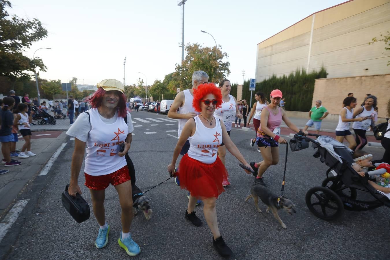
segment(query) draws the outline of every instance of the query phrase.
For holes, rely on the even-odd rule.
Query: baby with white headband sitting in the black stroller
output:
[[[363,150],[356,150],[353,152],[353,161],[352,168],[362,177],[368,176],[368,168],[374,167],[371,163],[372,154],[365,152]],[[380,186],[373,182],[372,180],[368,180],[369,184],[374,187],[374,189],[378,191],[382,191],[384,193],[390,193],[390,188]]]

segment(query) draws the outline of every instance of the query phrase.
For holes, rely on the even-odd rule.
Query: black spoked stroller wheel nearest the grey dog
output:
[[[313,187],[306,193],[306,205],[317,217],[335,220],[342,216],[344,205],[337,193],[326,187]]]

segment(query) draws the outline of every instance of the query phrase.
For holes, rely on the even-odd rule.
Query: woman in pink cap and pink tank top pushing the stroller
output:
[[[256,143],[261,150],[264,160],[259,163],[250,163],[252,169],[257,172],[256,184],[266,186],[262,179],[263,174],[269,166],[278,164],[278,144],[287,143],[284,138],[280,137],[280,123],[282,123],[282,120],[294,132],[298,133],[300,131],[287,117],[286,112],[279,107],[282,97],[282,91],[278,89],[272,90],[270,97],[271,103],[261,111],[260,127],[257,129]],[[303,133],[305,135],[308,134],[307,131],[303,131]],[[269,148],[267,149],[267,147]]]

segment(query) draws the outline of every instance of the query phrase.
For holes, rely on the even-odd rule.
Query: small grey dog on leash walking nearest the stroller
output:
[[[259,208],[259,205],[257,205],[259,203],[260,198],[261,201],[268,206],[266,212],[269,213],[269,209],[271,209],[275,218],[279,221],[280,225],[282,225],[282,228],[287,227],[286,225],[284,225],[282,219],[279,218],[278,210],[284,209],[290,215],[296,213],[294,209],[295,205],[291,200],[284,196],[279,197],[273,194],[270,189],[260,184],[252,185],[252,187],[250,188],[250,195],[245,199],[245,201],[247,202],[250,198],[254,199],[255,207],[257,211],[261,213],[261,209]]]

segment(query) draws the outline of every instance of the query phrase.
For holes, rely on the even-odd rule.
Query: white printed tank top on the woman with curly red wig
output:
[[[218,117],[214,116],[216,125],[214,128],[204,126],[199,115],[194,117],[196,130],[190,136],[190,149],[188,156],[202,163],[211,164],[217,159],[218,147],[222,143],[222,128]],[[192,120],[192,119],[191,119]]]

